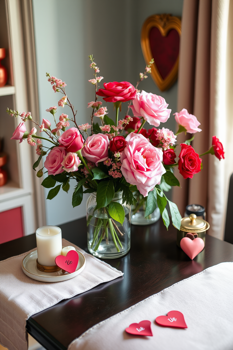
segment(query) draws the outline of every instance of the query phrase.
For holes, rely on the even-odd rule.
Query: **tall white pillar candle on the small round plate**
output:
[[[36,230],[38,263],[55,266],[55,258],[61,255],[61,229],[57,226],[42,226]]]

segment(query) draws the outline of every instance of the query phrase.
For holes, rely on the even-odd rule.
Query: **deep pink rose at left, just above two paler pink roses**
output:
[[[77,152],[82,148],[84,139],[75,127],[66,130],[58,139],[59,144],[66,148],[67,152]]]

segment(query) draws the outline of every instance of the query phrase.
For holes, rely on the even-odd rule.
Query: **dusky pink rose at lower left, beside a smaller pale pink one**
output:
[[[66,155],[64,147],[54,147],[47,155],[44,166],[48,169],[48,175],[56,175],[63,172],[62,164]]]

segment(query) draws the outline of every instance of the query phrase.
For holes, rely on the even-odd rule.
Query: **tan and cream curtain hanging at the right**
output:
[[[184,0],[177,111],[186,108],[201,123],[192,147],[204,153],[216,135],[223,143],[225,160],[205,155],[203,169],[174,188],[173,200],[181,215],[187,204],[202,204],[211,227],[209,234],[223,239],[229,178],[233,172],[233,2]],[[189,135],[187,135],[188,137]],[[184,135],[179,135],[179,142]],[[177,147],[178,149],[178,147]],[[178,149],[179,151],[179,149]]]

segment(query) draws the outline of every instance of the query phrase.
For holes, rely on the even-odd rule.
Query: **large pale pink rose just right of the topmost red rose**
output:
[[[161,96],[141,91],[133,99],[134,117],[143,117],[150,125],[159,126],[165,123],[170,117],[172,110],[167,109],[168,103]]]

